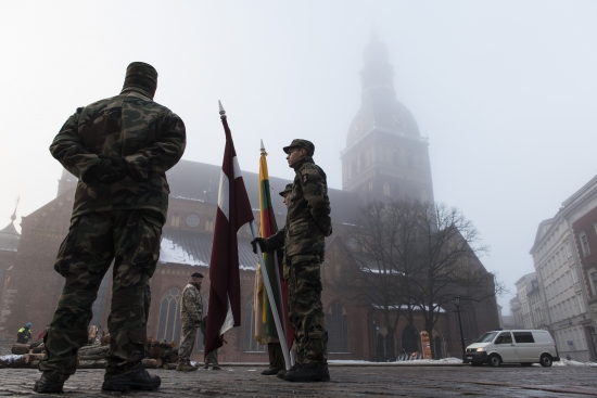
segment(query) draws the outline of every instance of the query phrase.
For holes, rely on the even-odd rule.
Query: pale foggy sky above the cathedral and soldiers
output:
[[[258,170],[263,139],[270,175],[291,179],[281,147],[305,138],[341,189],[374,26],[429,137],[435,200],[492,247],[507,314],[538,223],[597,172],[596,16],[589,1],[3,1],[0,228],[18,195],[18,217],[55,197],[53,137],[117,94],[132,61],[155,66],[155,101],[185,120],[185,159],[221,164],[221,100],[241,168]]]

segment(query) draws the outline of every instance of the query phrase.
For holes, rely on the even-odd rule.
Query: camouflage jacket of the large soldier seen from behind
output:
[[[165,220],[166,170],[178,163],[185,146],[180,117],[143,90],[125,88],[119,95],[79,107],[54,138],[50,152],[79,179],[73,216],[152,209]],[[101,161],[98,155],[123,157],[128,175],[113,183],[97,181],[92,168]]]

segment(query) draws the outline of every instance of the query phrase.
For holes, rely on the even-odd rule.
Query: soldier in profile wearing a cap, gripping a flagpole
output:
[[[296,174],[284,228],[253,240],[264,252],[284,247],[284,280],[289,283],[290,324],[294,329],[296,363],[278,376],[291,382],[327,382],[328,331],[321,304],[320,266],[325,237],[332,233],[326,174],[313,161],[315,145],[293,140],[284,146],[289,167]]]

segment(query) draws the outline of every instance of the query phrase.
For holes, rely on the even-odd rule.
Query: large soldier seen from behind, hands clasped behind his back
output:
[[[79,107],[50,152],[78,178],[68,234],[54,269],[65,279],[45,337],[38,393],[62,390],[87,343],[91,306],[112,262],[110,351],[102,389],[155,389],[141,368],[151,301],[149,280],[160,256],[168,209],[166,171],[186,145],[180,117],[153,101],[157,72],[134,62],[122,92]]]

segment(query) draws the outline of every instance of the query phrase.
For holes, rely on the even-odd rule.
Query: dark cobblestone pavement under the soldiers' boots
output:
[[[103,370],[79,370],[56,397],[589,397],[597,396],[596,369],[466,365],[331,365],[329,383],[289,383],[262,376],[264,367],[223,365],[221,371],[151,370],[155,391],[102,393]],[[33,396],[37,370],[0,369],[0,396]],[[50,396],[50,395],[46,395]]]

